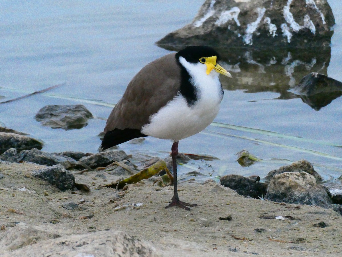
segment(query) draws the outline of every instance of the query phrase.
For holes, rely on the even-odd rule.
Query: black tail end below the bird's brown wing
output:
[[[133,138],[145,137],[147,135],[142,134],[140,130],[137,129],[114,129],[107,131],[102,140],[102,150],[109,147],[119,145],[121,143],[127,142]]]

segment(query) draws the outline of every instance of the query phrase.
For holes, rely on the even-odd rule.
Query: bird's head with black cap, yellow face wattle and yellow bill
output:
[[[232,77],[217,62],[220,60],[219,53],[208,46],[188,46],[176,53],[176,58],[181,62],[181,58],[191,64],[206,65],[206,73],[209,75],[212,70],[224,76]],[[184,65],[183,65],[184,66]]]

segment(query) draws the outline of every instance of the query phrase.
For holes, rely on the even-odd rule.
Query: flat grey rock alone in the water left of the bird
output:
[[[36,121],[52,129],[81,129],[87,126],[88,119],[93,118],[83,105],[47,105],[36,114]]]

